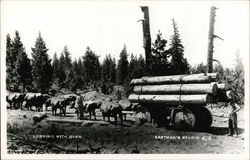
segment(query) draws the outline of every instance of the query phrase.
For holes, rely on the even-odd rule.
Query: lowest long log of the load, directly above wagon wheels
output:
[[[210,101],[208,94],[200,95],[136,95],[132,94],[128,98],[132,103],[166,103],[178,104],[206,104]]]

